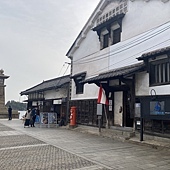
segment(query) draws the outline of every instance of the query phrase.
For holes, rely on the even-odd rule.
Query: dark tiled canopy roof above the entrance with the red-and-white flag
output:
[[[96,77],[83,80],[81,81],[81,83],[94,83],[95,81],[108,80],[111,78],[118,78],[120,76],[128,76],[128,75],[131,75],[135,72],[142,70],[144,67],[145,65],[143,63],[138,63],[138,64],[126,66],[126,67],[117,68],[117,69],[99,74]]]

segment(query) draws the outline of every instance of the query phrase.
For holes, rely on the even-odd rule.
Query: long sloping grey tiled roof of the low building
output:
[[[40,92],[40,91],[45,91],[45,90],[50,90],[50,89],[57,89],[65,84],[69,83],[69,81],[70,81],[70,75],[43,81],[42,83],[40,83],[34,87],[31,87],[25,91],[22,91],[21,95],[28,95],[29,93]]]

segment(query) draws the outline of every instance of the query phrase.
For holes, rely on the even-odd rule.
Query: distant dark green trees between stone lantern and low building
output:
[[[14,100],[8,101],[6,107],[12,107],[13,110],[25,111],[27,109],[27,103],[16,102]]]

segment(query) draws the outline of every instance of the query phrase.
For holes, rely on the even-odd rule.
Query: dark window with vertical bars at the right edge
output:
[[[170,84],[170,60],[150,63],[150,85]]]

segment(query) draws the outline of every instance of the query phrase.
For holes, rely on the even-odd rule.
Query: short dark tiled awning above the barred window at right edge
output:
[[[148,53],[144,53],[142,54],[141,57],[137,58],[138,60],[144,60],[146,58],[149,58],[149,57],[152,57],[152,56],[155,56],[155,55],[161,55],[161,54],[164,54],[166,52],[170,51],[170,46],[168,47],[164,47],[164,48],[160,48],[160,49],[157,49],[157,50],[154,50],[154,51],[151,51],[151,52],[148,52]]]

